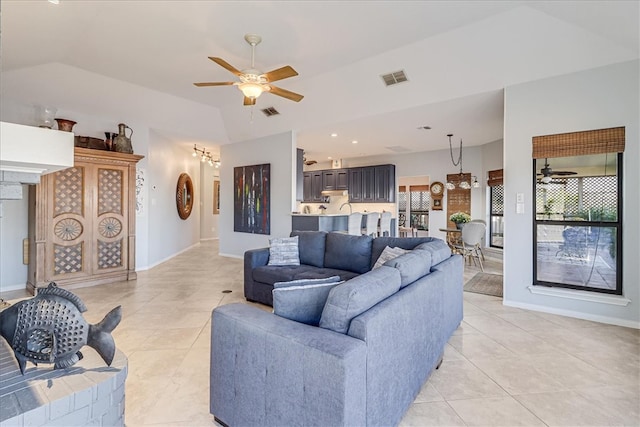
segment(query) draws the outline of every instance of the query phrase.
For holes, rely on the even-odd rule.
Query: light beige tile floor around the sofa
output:
[[[216,425],[209,414],[210,314],[245,302],[242,260],[217,253],[217,241],[203,242],[135,281],[74,290],[91,323],[123,306],[114,337],[129,358],[128,427]],[[501,270],[487,258],[485,271]],[[465,280],[478,271],[465,266]],[[640,425],[640,331],[466,292],[464,304],[444,363],[401,426]]]

